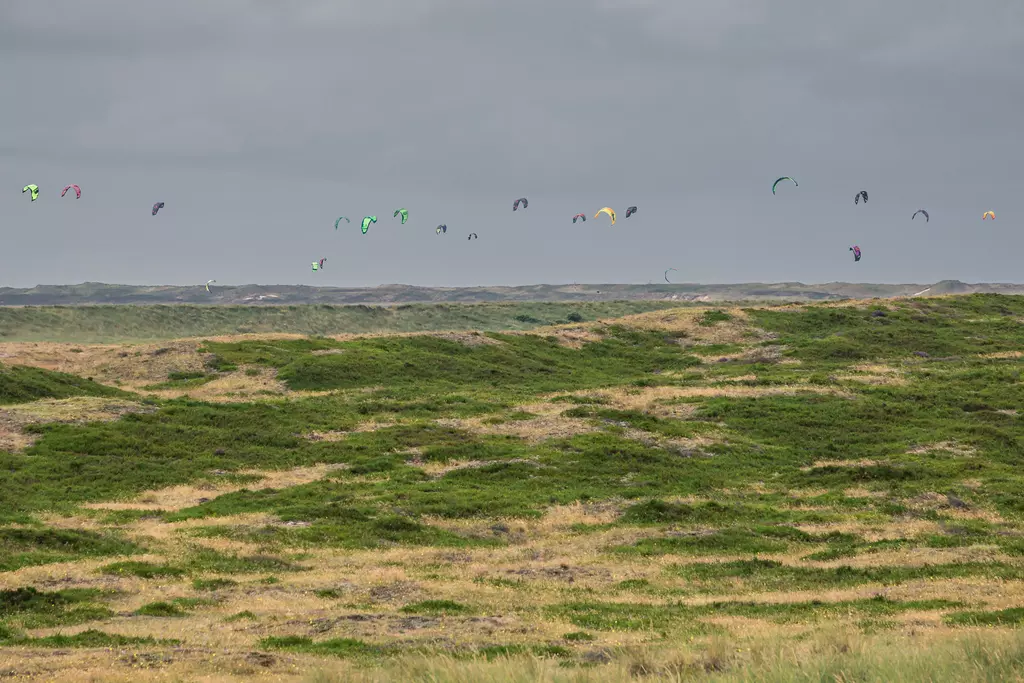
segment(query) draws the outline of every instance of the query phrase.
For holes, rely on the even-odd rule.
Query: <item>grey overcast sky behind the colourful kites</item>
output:
[[[0,285],[1021,282],[1022,67],[1021,0],[0,2]]]

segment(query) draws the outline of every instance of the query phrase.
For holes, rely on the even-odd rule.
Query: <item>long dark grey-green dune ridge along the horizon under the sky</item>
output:
[[[520,285],[515,287],[309,287],[305,285],[38,285],[28,289],[0,288],[0,306],[53,306],[87,304],[407,304],[484,303],[517,301],[741,301],[889,298],[942,294],[1024,294],[1024,285],[967,284],[944,280],[932,285],[878,285],[869,283],[742,283],[733,285]]]

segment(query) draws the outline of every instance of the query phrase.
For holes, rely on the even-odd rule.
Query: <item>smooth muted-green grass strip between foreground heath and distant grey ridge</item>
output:
[[[238,335],[529,330],[679,306],[665,301],[366,305],[0,306],[0,342],[111,343]]]

